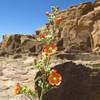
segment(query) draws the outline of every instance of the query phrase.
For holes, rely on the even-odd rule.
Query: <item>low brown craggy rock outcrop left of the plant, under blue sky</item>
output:
[[[1,55],[33,52],[38,53],[41,50],[41,43],[33,41],[32,35],[4,35],[0,44]]]

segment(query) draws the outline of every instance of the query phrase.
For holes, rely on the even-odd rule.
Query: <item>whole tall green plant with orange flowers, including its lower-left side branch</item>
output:
[[[27,86],[21,86],[21,84],[16,83],[13,94],[26,94],[31,100],[43,100],[43,95],[47,93],[50,89],[58,87],[62,82],[62,76],[57,72],[56,69],[50,67],[50,59],[57,52],[58,48],[54,43],[57,33],[60,30],[60,24],[62,22],[62,16],[56,17],[58,13],[58,8],[52,6],[51,12],[46,12],[45,15],[48,17],[49,23],[46,24],[46,31],[40,32],[36,37],[35,41],[41,42],[42,51],[41,59],[37,60],[35,68],[41,72],[41,76],[34,79],[34,82],[38,83],[41,88],[40,96],[38,96],[37,90],[33,91]],[[54,67],[54,66],[52,66]]]

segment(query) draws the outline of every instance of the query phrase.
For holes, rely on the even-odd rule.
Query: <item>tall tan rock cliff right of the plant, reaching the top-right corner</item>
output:
[[[100,50],[100,1],[86,2],[60,11],[63,48],[67,52]],[[40,29],[44,31],[44,29]]]

